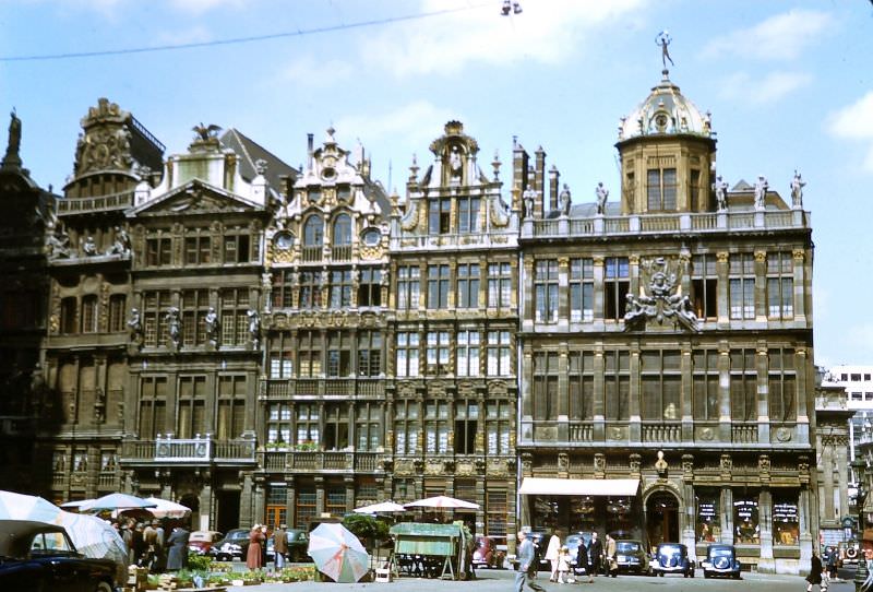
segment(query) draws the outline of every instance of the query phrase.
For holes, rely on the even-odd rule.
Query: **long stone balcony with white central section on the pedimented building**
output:
[[[254,461],[253,439],[159,437],[121,445],[123,464],[250,464]]]

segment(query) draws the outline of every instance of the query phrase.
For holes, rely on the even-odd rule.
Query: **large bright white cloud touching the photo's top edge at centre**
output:
[[[363,42],[363,59],[395,75],[452,74],[471,62],[507,64],[519,58],[557,63],[569,59],[595,27],[619,22],[645,0],[522,2],[524,12],[500,16],[500,3],[386,26]],[[463,8],[469,0],[424,0],[421,12]]]

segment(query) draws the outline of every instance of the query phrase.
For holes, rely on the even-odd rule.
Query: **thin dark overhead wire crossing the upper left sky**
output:
[[[246,43],[255,43],[255,42],[264,42],[270,39],[280,39],[286,37],[302,37],[304,35],[316,35],[320,33],[332,33],[335,31],[345,31],[349,28],[362,28],[368,26],[376,26],[376,25],[386,25],[392,23],[400,23],[405,21],[417,21],[421,19],[430,19],[432,16],[440,16],[443,14],[450,14],[453,12],[463,12],[468,10],[475,10],[482,8],[485,5],[491,4],[491,2],[479,2],[477,4],[468,4],[465,7],[456,7],[456,8],[449,8],[442,10],[435,10],[431,12],[421,12],[417,14],[406,14],[402,16],[388,16],[385,19],[374,19],[371,21],[361,21],[358,23],[347,23],[342,25],[330,25],[330,26],[322,26],[322,27],[314,27],[314,28],[306,28],[306,29],[297,29],[297,31],[288,31],[284,33],[271,33],[266,35],[252,35],[249,37],[235,37],[230,39],[213,39],[210,42],[191,42],[186,44],[168,44],[168,45],[157,45],[157,46],[150,46],[150,47],[131,47],[124,49],[104,49],[104,50],[96,50],[96,51],[75,51],[75,52],[65,52],[65,54],[43,54],[43,55],[33,55],[33,56],[0,56],[0,62],[13,62],[13,61],[45,61],[45,60],[65,60],[65,59],[76,59],[76,58],[96,58],[96,57],[104,57],[104,56],[124,56],[130,54],[148,54],[152,51],[171,51],[176,49],[192,49],[198,47],[215,47],[215,46],[223,46],[223,45],[235,45],[235,44],[246,44]]]

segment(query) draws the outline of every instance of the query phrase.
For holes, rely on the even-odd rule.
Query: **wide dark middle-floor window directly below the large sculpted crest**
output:
[[[643,419],[681,418],[681,353],[672,350],[643,352],[639,356]]]

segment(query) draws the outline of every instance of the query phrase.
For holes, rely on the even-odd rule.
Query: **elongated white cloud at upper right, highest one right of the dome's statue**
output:
[[[834,25],[830,13],[793,9],[750,28],[716,37],[703,57],[741,56],[764,60],[793,60]]]

